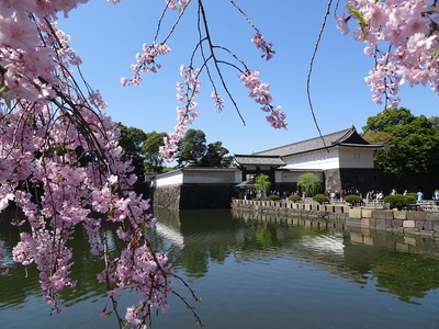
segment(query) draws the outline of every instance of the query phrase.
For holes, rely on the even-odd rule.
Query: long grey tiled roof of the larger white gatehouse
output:
[[[311,139],[306,139],[303,141],[297,141],[293,144],[289,144],[281,147],[275,147],[272,149],[255,152],[255,156],[279,156],[286,157],[303,152],[308,152],[313,150],[330,148],[334,146],[361,146],[361,147],[373,147],[378,148],[381,145],[370,144],[364,140],[358,133],[357,129],[352,126],[348,129],[331,133],[328,135],[323,135],[322,137],[315,137]]]

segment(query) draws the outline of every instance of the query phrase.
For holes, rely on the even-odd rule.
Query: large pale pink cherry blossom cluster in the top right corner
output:
[[[338,27],[348,34],[348,22],[357,21],[354,38],[375,58],[375,68],[365,78],[373,101],[381,104],[384,99],[397,106],[398,86],[405,82],[429,84],[439,93],[437,1],[348,0],[346,5],[349,14],[337,18]]]

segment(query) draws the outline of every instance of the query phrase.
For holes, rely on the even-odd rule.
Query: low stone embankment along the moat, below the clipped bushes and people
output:
[[[439,212],[384,211],[347,204],[315,204],[279,201],[233,200],[233,209],[319,218],[349,227],[383,229],[439,239]]]

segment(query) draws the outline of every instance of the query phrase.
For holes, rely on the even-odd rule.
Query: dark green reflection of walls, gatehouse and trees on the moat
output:
[[[210,262],[291,258],[405,303],[439,287],[438,241],[383,230],[344,228],[315,218],[233,211],[155,209],[157,243],[169,248],[188,276],[207,275]],[[165,240],[162,240],[165,238]],[[172,241],[166,246],[164,241]]]

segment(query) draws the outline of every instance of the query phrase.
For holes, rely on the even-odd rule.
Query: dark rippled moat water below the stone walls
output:
[[[154,243],[202,298],[192,305],[205,328],[439,328],[439,241],[431,238],[229,209],[155,214]],[[0,240],[15,241],[4,224]],[[49,316],[34,270],[0,276],[0,328],[116,328],[98,316],[106,299],[86,245],[79,234],[77,292],[63,295],[61,315]],[[199,328],[181,302],[170,305],[154,328]]]

